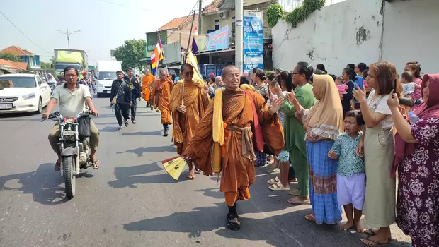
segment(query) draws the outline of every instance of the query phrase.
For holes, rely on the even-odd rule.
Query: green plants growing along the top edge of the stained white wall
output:
[[[297,28],[297,25],[307,20],[314,11],[319,11],[323,8],[325,2],[326,0],[304,0],[302,6],[295,8],[292,12],[287,13],[286,16],[282,15],[280,17],[277,11],[277,5],[279,4],[272,4],[267,8],[268,25],[273,28],[280,18],[284,18],[288,25],[292,28]],[[280,8],[282,8],[282,6],[280,6]]]

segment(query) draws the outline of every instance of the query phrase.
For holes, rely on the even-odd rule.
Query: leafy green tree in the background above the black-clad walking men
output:
[[[142,72],[146,64],[140,59],[144,58],[144,50],[147,45],[145,40],[125,40],[125,43],[115,49],[114,56],[118,61],[122,61],[122,69],[138,68]]]

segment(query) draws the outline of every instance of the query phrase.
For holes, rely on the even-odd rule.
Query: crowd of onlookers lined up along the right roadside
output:
[[[280,173],[268,188],[310,204],[312,222],[336,224],[343,207],[340,229],[367,234],[367,246],[392,241],[394,222],[412,246],[439,246],[439,74],[423,75],[417,62],[399,73],[384,61],[348,64],[341,76],[306,62],[244,73],[241,88],[268,105],[284,98],[284,150],[256,151],[255,165]],[[224,87],[220,77],[208,80],[211,96]]]

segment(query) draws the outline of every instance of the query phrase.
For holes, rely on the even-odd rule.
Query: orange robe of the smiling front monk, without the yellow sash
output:
[[[251,128],[253,117],[258,117],[261,124],[265,143],[277,155],[283,150],[283,129],[278,119],[278,114],[271,115],[268,106],[261,95],[249,92],[253,97],[256,108],[256,116],[253,116],[251,98],[246,95],[244,90],[224,90],[222,93],[222,118],[227,126],[237,128]],[[193,161],[198,168],[207,175],[212,175],[212,119],[213,119],[213,100],[206,109],[205,116],[195,127],[195,133],[190,139],[185,152],[193,157]],[[247,200],[250,198],[249,186],[255,181],[255,169],[253,161],[243,157],[241,143],[243,131],[236,129],[225,129],[224,154],[221,158],[222,176],[220,190],[224,193],[224,198],[228,206],[233,206],[236,200]],[[250,135],[252,136],[253,128]],[[252,150],[253,152],[253,150]]]

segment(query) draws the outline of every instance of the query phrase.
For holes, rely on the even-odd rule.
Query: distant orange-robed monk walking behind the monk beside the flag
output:
[[[171,92],[173,82],[171,76],[168,76],[168,71],[165,68],[160,70],[160,78],[154,80],[152,86],[152,97],[154,101],[154,108],[159,108],[161,112],[161,124],[163,124],[163,136],[168,136],[169,124],[172,124],[171,112],[169,111],[169,100],[171,99]]]

